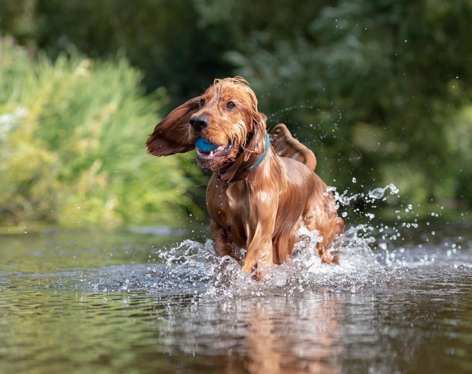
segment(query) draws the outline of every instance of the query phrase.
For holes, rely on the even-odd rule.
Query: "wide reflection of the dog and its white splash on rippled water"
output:
[[[165,318],[170,354],[183,351],[208,361],[218,356],[226,372],[340,372],[340,311],[332,296],[251,296],[181,306],[170,307]]]

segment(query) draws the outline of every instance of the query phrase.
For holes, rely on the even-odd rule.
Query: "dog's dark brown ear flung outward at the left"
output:
[[[154,128],[146,141],[147,153],[154,156],[167,156],[183,153],[195,148],[188,136],[188,120],[198,110],[200,96],[185,101],[173,109]]]

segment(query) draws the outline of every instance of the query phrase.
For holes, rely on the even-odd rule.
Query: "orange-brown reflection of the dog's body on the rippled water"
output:
[[[256,303],[244,316],[250,372],[337,373],[337,305],[332,299]],[[288,315],[278,310],[292,308]]]

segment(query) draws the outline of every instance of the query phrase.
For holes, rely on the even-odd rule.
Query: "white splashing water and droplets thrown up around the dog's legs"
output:
[[[399,192],[390,183],[351,196],[346,191],[339,194],[335,187],[327,187],[326,193],[333,192],[339,207],[357,198],[367,203],[385,199],[386,190],[390,190],[390,194]],[[408,205],[407,209],[410,208]],[[372,219],[374,214],[366,213],[366,216]],[[375,234],[380,240],[376,245]],[[184,240],[171,249],[157,250],[163,264],[155,265],[151,271],[158,278],[154,285],[161,291],[178,289],[216,297],[286,295],[305,290],[356,292],[380,282],[395,282],[405,263],[395,259],[395,253],[390,252],[388,246],[400,236],[396,226],[382,223],[377,228],[368,224],[347,227],[333,243],[340,251],[339,265],[329,265],[322,263],[316,252],[315,245],[322,240],[319,232],[301,227],[296,232],[297,242],[290,262],[268,268],[262,281],[254,280],[253,274],[243,273],[240,261],[217,256],[210,239],[205,243]]]

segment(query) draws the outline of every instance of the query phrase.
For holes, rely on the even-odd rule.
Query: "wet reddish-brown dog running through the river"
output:
[[[147,151],[186,152],[200,137],[217,146],[197,151],[198,164],[213,171],[206,189],[211,236],[217,255],[237,258],[234,248],[246,248],[242,271],[288,261],[301,225],[322,235],[316,244],[321,260],[337,262],[327,248],[344,222],[314,173],[313,152],[281,123],[272,130],[271,145],[265,120],[243,78],[215,79],[155,126]]]

